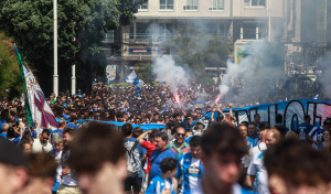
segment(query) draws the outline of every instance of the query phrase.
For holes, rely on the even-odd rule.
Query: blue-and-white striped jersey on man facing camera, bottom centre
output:
[[[191,153],[185,153],[179,159],[177,179],[182,180],[180,194],[194,194],[203,176],[203,165],[201,159],[192,158]]]

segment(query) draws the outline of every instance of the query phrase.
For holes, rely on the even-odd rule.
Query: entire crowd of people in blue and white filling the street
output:
[[[97,84],[89,96],[61,94],[49,100],[57,129],[29,126],[19,99],[1,101],[3,193],[331,193],[330,118],[311,126],[306,115],[297,131],[281,115],[275,126],[258,114],[237,123],[220,104],[197,107],[194,89],[203,91],[179,89],[180,105],[166,86],[137,94]],[[218,90],[204,93],[213,101]],[[220,117],[192,125],[209,111]],[[166,127],[132,127],[143,123]]]

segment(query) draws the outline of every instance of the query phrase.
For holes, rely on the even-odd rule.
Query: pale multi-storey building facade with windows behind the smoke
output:
[[[131,25],[108,35],[113,37],[107,44],[110,47],[108,61],[120,68],[120,74],[136,68],[139,63],[151,62],[154,56],[169,52],[162,48],[162,43],[168,36],[181,35],[183,26],[194,29],[196,35],[227,41],[234,47],[264,39],[284,43],[291,55],[302,55],[302,40],[327,46],[330,39],[325,35],[329,0],[317,1],[146,0]],[[303,17],[309,8],[316,10],[316,18]],[[317,22],[313,32],[307,31],[311,20]]]

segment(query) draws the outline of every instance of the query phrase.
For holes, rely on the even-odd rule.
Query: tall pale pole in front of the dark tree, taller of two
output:
[[[53,39],[54,39],[54,75],[53,75],[53,93],[58,96],[58,74],[57,74],[57,0],[53,0]]]

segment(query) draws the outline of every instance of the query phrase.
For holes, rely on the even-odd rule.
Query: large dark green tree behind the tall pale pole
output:
[[[77,76],[86,83],[93,77],[87,77],[90,78],[87,80],[84,68],[98,69],[96,61],[106,65],[102,54],[104,32],[130,23],[135,19],[132,11],[137,10],[140,1],[57,1],[60,88],[65,90],[70,86],[71,65],[77,64],[77,69],[81,69]],[[0,30],[13,36],[25,61],[36,71],[41,87],[50,94],[53,75],[53,0],[0,1]]]

